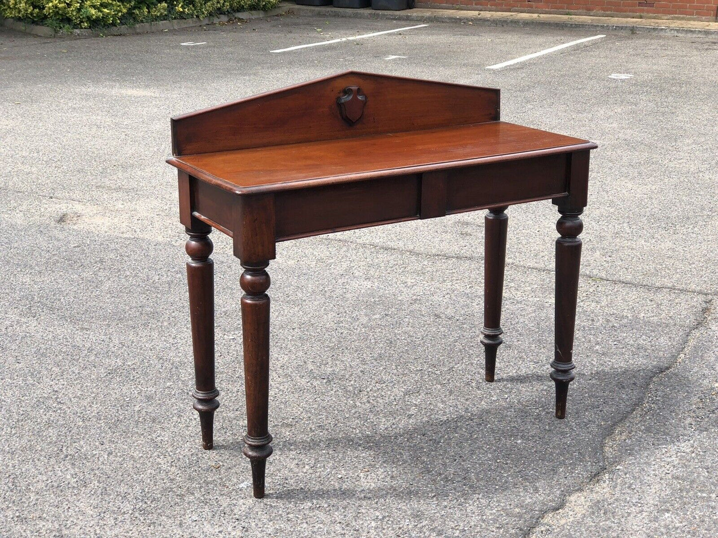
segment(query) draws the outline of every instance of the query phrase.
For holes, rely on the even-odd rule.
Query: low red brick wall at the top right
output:
[[[417,0],[416,7],[446,7],[485,11],[528,11],[573,15],[644,16],[646,18],[716,21],[718,0]]]

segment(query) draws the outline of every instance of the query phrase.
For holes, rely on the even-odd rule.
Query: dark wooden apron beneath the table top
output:
[[[180,177],[180,199],[189,199],[192,217],[232,237],[243,222],[266,220],[274,227],[273,232],[268,230],[274,240],[286,241],[566,197],[571,161],[572,154],[557,154],[250,195],[234,194],[190,176],[184,183],[189,193],[182,192]],[[259,199],[261,203],[256,203]],[[254,207],[261,207],[261,214],[251,214]]]

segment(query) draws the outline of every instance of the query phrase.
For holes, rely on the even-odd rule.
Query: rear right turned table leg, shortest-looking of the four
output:
[[[508,206],[493,207],[484,217],[484,327],[481,343],[484,344],[486,381],[493,382],[496,370],[496,351],[503,343],[501,335],[501,299],[503,273],[506,262],[506,230]]]

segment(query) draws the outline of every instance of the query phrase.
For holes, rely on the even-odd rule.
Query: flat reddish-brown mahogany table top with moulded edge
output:
[[[580,138],[490,121],[172,156],[167,162],[225,190],[256,194],[596,147]]]

